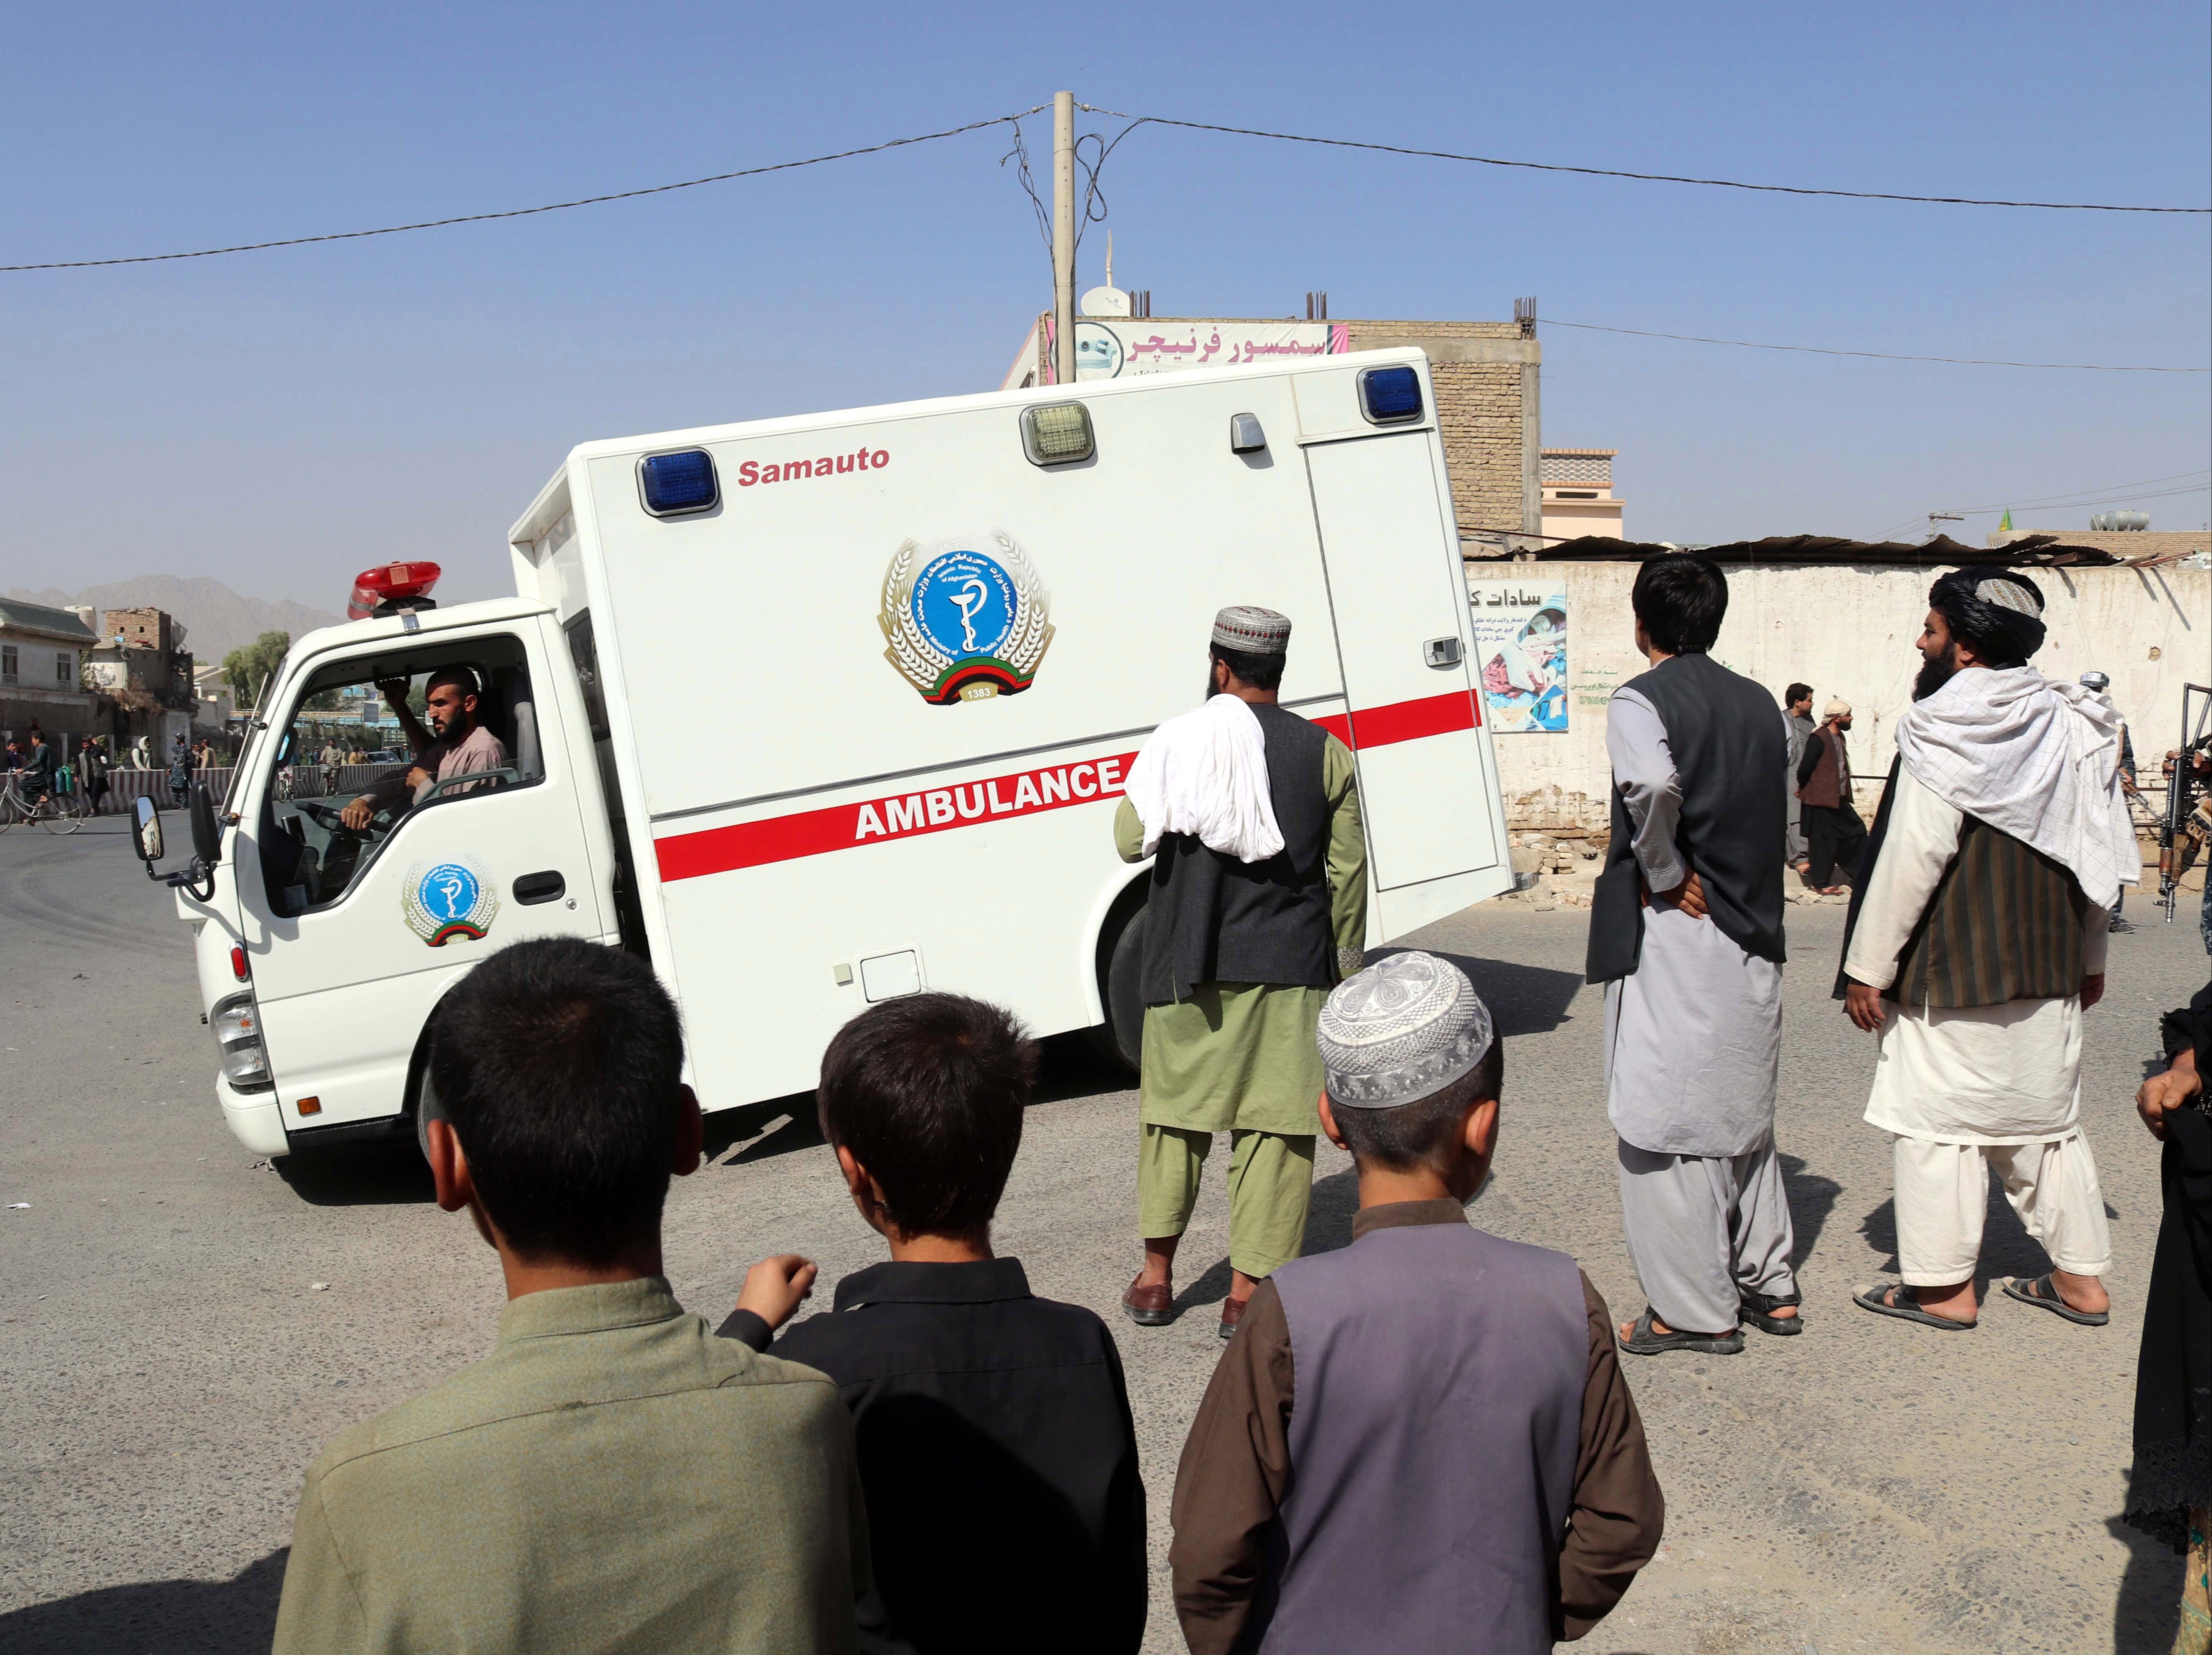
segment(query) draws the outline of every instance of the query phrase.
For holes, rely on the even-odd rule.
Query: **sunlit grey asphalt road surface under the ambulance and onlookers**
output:
[[[1473,1219],[1573,1252],[1628,1316],[1641,1294],[1584,925],[1577,909],[1489,905],[1418,940],[1462,960],[1509,1038],[1500,1164]],[[2150,916],[2112,938],[2088,1024],[2112,1325],[1991,1294],[1960,1336],[1849,1303],[1893,1270],[1896,1226],[1887,1139],[1860,1122],[1871,1040],[1827,998],[1840,934],[1840,909],[1790,909],[1778,1142],[1807,1330],[1754,1332],[1732,1359],[1624,1359],[1668,1540],[1584,1648],[2163,1651],[2179,1560],[2115,1520],[2159,1221],[2157,1146],[2130,1100],[2157,1013],[2205,980],[2194,925]],[[493,1259],[465,1217],[436,1210],[411,1151],[272,1168],[232,1142],[184,925],[119,823],[0,836],[0,1648],[265,1648],[301,1469],[338,1427],[484,1352]],[[1115,1328],[1152,1513],[1146,1648],[1177,1651],[1168,1496],[1219,1354],[1225,1199],[1210,1179],[1183,1246],[1190,1312],[1164,1330],[1121,1321],[1135,1120],[1119,1075],[1079,1040],[1053,1042],[998,1246],[1037,1292]],[[807,1100],[714,1117],[710,1148],[668,1208],[688,1305],[726,1312],[765,1252],[812,1255],[825,1288],[880,1257]],[[1323,1144],[1307,1248],[1343,1246],[1352,1208],[1347,1162]],[[2042,1268],[1993,1195],[1984,1270]]]

